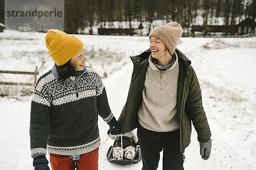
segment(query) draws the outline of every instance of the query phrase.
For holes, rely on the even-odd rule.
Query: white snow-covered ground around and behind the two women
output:
[[[53,61],[45,47],[44,36],[44,33],[9,30],[0,33],[0,70],[34,71],[38,66],[39,75],[42,75],[51,69]],[[84,42],[87,65],[105,77],[103,82],[111,110],[119,117],[127,99],[133,68],[129,56],[146,50],[148,37],[77,37]],[[205,161],[200,156],[193,129],[192,142],[185,151],[185,170],[255,170],[256,38],[181,38],[177,48],[192,61],[212,131],[212,152]],[[0,74],[0,79],[23,81],[25,78],[24,75]],[[29,144],[31,98],[0,98],[0,170],[33,169]],[[141,161],[124,166],[106,159],[113,141],[106,134],[108,125],[100,117],[98,123],[102,141],[99,170],[140,170]],[[162,169],[161,158],[158,170]]]

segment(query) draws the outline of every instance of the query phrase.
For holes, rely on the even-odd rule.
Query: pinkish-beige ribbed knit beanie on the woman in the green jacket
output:
[[[170,53],[173,55],[175,48],[177,46],[178,40],[182,34],[182,28],[180,24],[171,22],[165,26],[160,26],[154,28],[153,31],[149,34],[149,40],[152,36],[157,37],[166,45]]]

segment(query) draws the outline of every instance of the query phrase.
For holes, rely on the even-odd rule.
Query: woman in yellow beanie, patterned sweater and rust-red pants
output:
[[[35,170],[97,170],[98,115],[120,133],[102,79],[84,66],[83,43],[63,31],[47,31],[45,43],[55,65],[38,79],[31,102],[30,146]]]

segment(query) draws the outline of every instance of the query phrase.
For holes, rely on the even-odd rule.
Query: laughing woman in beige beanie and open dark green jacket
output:
[[[137,129],[143,170],[156,170],[163,150],[163,170],[183,170],[191,121],[200,153],[208,159],[211,132],[201,89],[191,61],[176,46],[182,34],[172,22],[149,35],[150,49],[131,57],[134,70],[127,102],[119,117],[122,133]]]

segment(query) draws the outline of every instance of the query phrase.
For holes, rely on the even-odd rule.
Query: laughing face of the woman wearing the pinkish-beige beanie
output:
[[[150,37],[149,47],[152,52],[152,57],[155,59],[161,59],[166,55],[165,44],[155,36]]]

